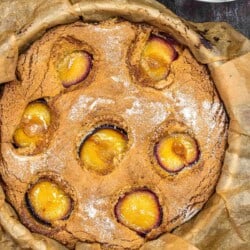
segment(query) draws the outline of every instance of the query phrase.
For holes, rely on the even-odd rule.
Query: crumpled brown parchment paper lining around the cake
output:
[[[207,64],[230,117],[228,148],[216,193],[193,219],[142,250],[250,249],[250,41],[225,23],[187,22],[154,0],[2,0],[0,83],[15,79],[18,53],[58,24],[121,16],[172,34]],[[0,189],[0,249],[65,249],[31,233]],[[77,243],[76,250],[101,249]]]

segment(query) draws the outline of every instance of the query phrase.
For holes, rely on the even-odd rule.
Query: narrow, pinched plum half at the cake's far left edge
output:
[[[13,135],[17,147],[35,147],[44,140],[51,123],[50,109],[46,103],[32,102],[24,110],[22,120]]]

